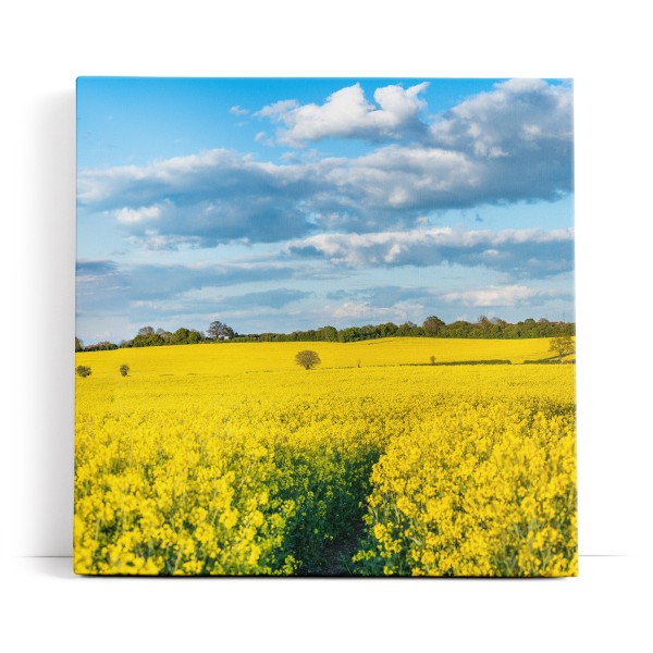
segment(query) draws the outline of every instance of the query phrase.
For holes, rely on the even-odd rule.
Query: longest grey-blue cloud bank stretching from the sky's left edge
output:
[[[390,146],[356,159],[284,165],[221,150],[183,159],[189,161],[81,173],[81,211],[108,211],[150,248],[212,247],[318,230],[406,229],[439,209],[534,197],[513,177],[485,183],[492,175],[484,165],[439,148]]]

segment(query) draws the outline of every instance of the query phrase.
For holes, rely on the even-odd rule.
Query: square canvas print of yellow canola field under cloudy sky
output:
[[[74,569],[575,576],[569,79],[77,81]]]

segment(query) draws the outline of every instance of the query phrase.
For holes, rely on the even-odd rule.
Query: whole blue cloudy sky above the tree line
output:
[[[77,82],[77,335],[574,319],[555,79]]]

